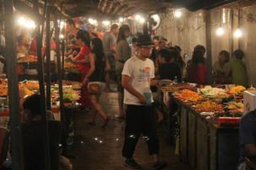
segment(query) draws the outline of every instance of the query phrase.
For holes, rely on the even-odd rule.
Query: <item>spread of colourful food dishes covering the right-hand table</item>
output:
[[[186,105],[203,118],[221,126],[238,124],[244,114],[243,86],[202,86],[190,83],[170,83],[161,87],[171,99]]]

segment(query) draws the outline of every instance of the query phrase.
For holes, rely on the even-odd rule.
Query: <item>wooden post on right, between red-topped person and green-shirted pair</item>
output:
[[[211,42],[211,12],[205,11],[205,33],[206,33],[206,61],[207,61],[207,83],[212,82],[212,42]]]

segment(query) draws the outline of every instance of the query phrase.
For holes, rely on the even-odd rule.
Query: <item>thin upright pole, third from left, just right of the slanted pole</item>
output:
[[[51,28],[50,8],[46,10],[46,108],[51,110]]]

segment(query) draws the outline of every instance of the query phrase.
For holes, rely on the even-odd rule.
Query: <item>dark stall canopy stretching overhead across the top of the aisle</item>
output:
[[[235,0],[48,0],[56,8],[62,8],[66,17],[90,16],[94,18],[116,19],[134,13],[164,13],[170,8],[185,7],[190,11],[211,9]],[[255,0],[246,0],[248,2]],[[17,2],[17,1],[16,1]],[[32,0],[27,0],[32,2]],[[39,1],[41,5],[44,1]],[[60,9],[59,9],[60,10]]]

